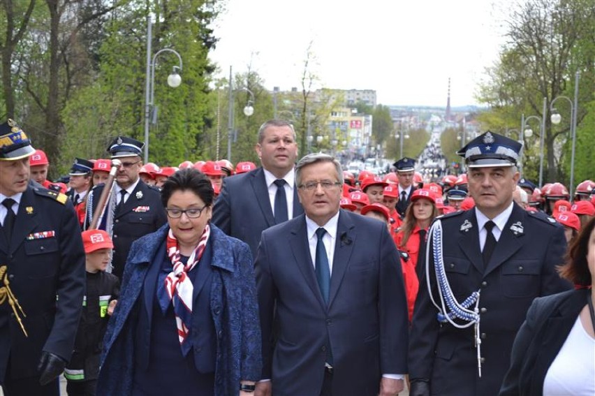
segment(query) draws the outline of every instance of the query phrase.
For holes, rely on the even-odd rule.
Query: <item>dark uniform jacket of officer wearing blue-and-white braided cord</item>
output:
[[[432,295],[438,298],[432,255],[413,312],[410,379],[429,381],[433,395],[497,395],[515,335],[531,302],[571,288],[555,269],[563,263],[566,251],[564,230],[554,219],[515,204],[484,270],[475,210],[438,219],[446,277],[455,298],[462,302],[480,290],[482,374],[479,378],[473,326],[459,329],[436,320],[437,309],[429,299],[425,279],[430,277]],[[429,243],[433,249],[433,240]]]

